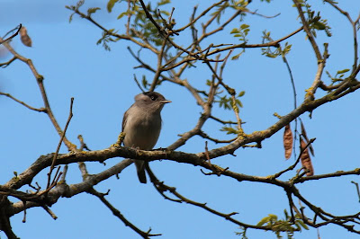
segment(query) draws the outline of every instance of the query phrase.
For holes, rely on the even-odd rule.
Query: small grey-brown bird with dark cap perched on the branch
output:
[[[161,130],[160,112],[164,104],[169,103],[163,95],[156,92],[139,93],[135,103],[124,113],[122,132],[125,133],[124,146],[150,150],[157,144]],[[146,162],[133,159],[139,181],[146,183]]]

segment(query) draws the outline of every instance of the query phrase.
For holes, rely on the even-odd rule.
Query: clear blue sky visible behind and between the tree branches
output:
[[[199,5],[199,13],[205,2]],[[271,20],[249,15],[244,22],[251,25],[249,43],[260,43],[260,33],[266,29],[272,31],[274,39],[278,39],[299,28],[297,14],[289,1],[275,1],[277,3],[274,4],[254,2],[250,5],[253,11],[281,15]],[[340,4],[353,18],[360,10],[360,5],[355,2],[347,0]],[[86,1],[83,10],[87,7],[101,7],[102,11],[96,13],[94,18],[108,29],[123,31],[123,22],[116,21],[116,16],[123,9],[116,6],[113,13],[109,14],[106,12],[106,3],[100,0]],[[321,9],[325,18],[330,18],[333,37],[328,38],[321,32],[318,43],[322,49],[322,43],[329,42],[327,70],[335,75],[338,70],[352,65],[351,29],[346,18],[327,4],[322,4],[320,0],[311,3]],[[77,16],[69,24],[71,12],[65,9],[65,4],[76,4],[76,1],[34,0],[30,3],[18,0],[15,3],[3,0],[0,4],[0,34],[4,35],[19,23],[26,26],[33,47],[24,47],[19,38],[13,40],[12,44],[24,57],[31,58],[40,75],[44,75],[50,105],[62,127],[67,120],[70,98],[75,97],[74,117],[67,129],[67,137],[76,143],[77,135],[81,134],[91,149],[103,149],[116,141],[121,131],[122,115],[133,102],[133,96],[139,93],[133,74],[137,74],[138,78],[144,74],[148,79],[152,75],[133,69],[138,64],[126,49],[130,42],[119,41],[111,44],[112,51],[105,51],[95,45],[102,32],[93,24]],[[174,16],[178,26],[188,21],[191,5],[193,1],[175,1]],[[237,40],[228,37],[233,27],[238,27],[238,22],[234,22],[212,42],[237,43]],[[181,43],[186,37],[184,34],[175,40]],[[289,40],[293,44],[293,51],[288,60],[293,69],[298,102],[302,102],[304,90],[310,87],[316,72],[316,59],[309,42],[304,38],[302,32]],[[224,75],[225,80],[238,92],[246,92],[241,99],[244,108],[240,116],[247,122],[244,126],[247,133],[274,124],[274,112],[284,115],[293,109],[290,78],[282,59],[259,57],[259,53],[260,49],[247,49],[238,61],[229,62]],[[2,57],[1,62],[8,58],[10,56]],[[145,59],[149,63],[154,62],[153,58]],[[198,87],[211,77],[202,66],[191,69],[185,76],[189,83]],[[323,75],[323,80],[329,84],[327,75]],[[42,107],[36,81],[29,68],[20,61],[0,69],[0,91],[11,93],[31,106]],[[157,91],[173,102],[166,105],[163,111],[164,127],[157,142],[158,147],[166,147],[178,138],[178,134],[193,128],[201,108],[194,103],[190,93],[174,85],[163,84]],[[321,96],[321,93],[317,96]],[[315,173],[347,171],[359,166],[359,102],[360,95],[356,92],[321,106],[313,112],[312,119],[308,114],[302,116],[309,137],[317,138],[313,145],[316,154],[313,158]],[[0,98],[0,107],[0,183],[3,184],[14,176],[14,172],[23,172],[40,155],[54,152],[59,138],[44,114],[29,111],[4,97]],[[235,120],[230,111],[215,108],[214,112],[215,115]],[[204,128],[213,137],[227,138],[218,130],[219,127],[209,121]],[[293,159],[284,161],[282,136],[283,130],[266,139],[262,149],[238,149],[237,157],[224,156],[214,159],[212,163],[229,166],[230,170],[238,173],[260,176],[276,173],[293,164]],[[209,148],[215,147],[209,144]],[[179,150],[202,152],[204,140],[194,137]],[[63,146],[61,153],[66,152]],[[109,159],[106,166],[87,164],[89,173],[98,173],[119,160]],[[284,190],[275,186],[204,176],[198,167],[188,164],[161,161],[151,166],[159,179],[175,186],[185,197],[207,202],[209,207],[224,213],[237,211],[239,214],[236,218],[245,223],[256,224],[268,214],[284,217],[284,209],[289,208]],[[35,181],[44,185],[47,172],[40,173]],[[288,173],[283,180],[292,176],[292,173]],[[81,176],[77,165],[70,165],[67,183],[79,181]],[[312,181],[299,185],[299,188],[307,199],[321,208],[335,215],[347,215],[359,211],[355,186],[350,181],[359,180],[358,177],[348,176]],[[146,231],[151,227],[153,233],[163,234],[160,238],[238,238],[234,233],[240,231],[237,226],[202,208],[167,201],[151,184],[140,184],[133,165],[121,173],[120,180],[113,177],[95,189],[103,192],[111,189],[107,199],[112,205],[140,229]],[[56,221],[42,208],[29,209],[25,224],[22,223],[22,213],[12,217],[15,234],[22,238],[138,238],[129,227],[113,217],[98,199],[88,194],[59,199],[52,210],[58,216]],[[249,230],[247,235],[249,238],[275,238],[274,234],[254,230]],[[0,236],[4,234],[0,233]],[[321,227],[320,236],[357,238],[338,226]],[[295,238],[317,238],[317,231],[311,228],[295,235]]]

